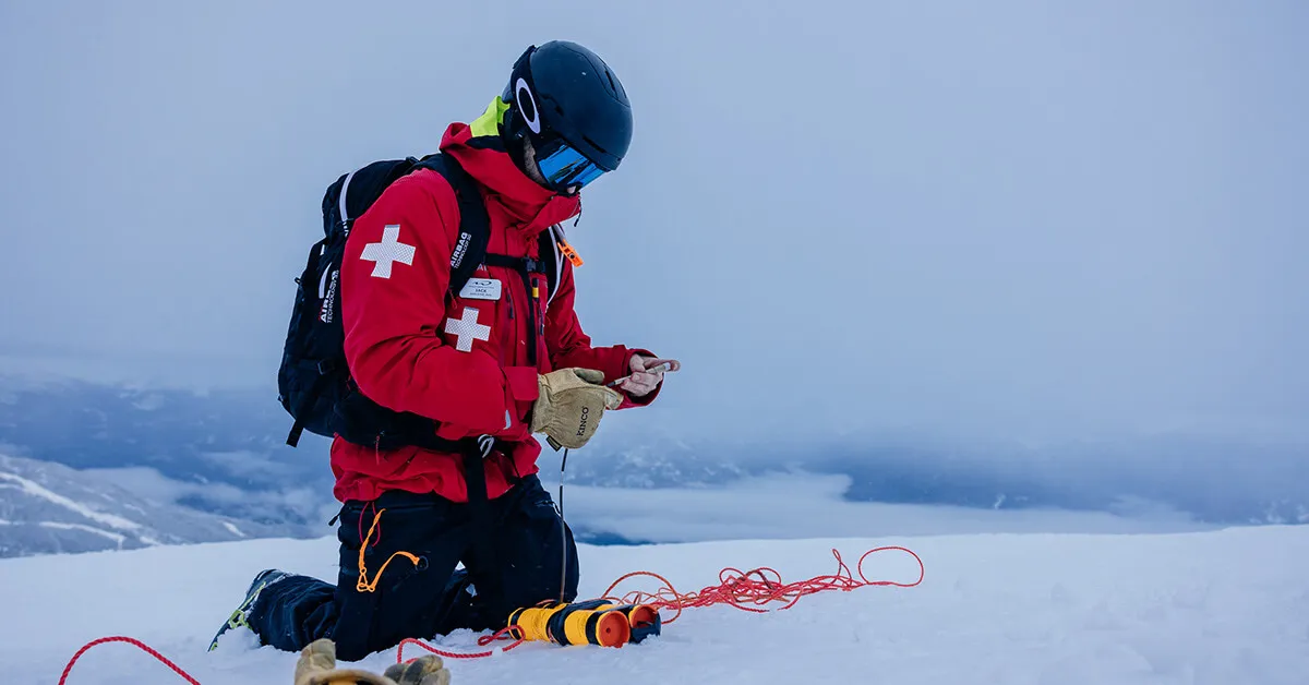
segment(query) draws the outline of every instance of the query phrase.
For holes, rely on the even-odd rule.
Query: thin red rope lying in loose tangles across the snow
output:
[[[869,580],[868,576],[864,575],[864,559],[880,551],[902,551],[912,557],[914,561],[918,562],[918,578],[908,583],[901,583],[897,580]],[[864,555],[859,558],[859,563],[855,565],[853,570],[851,570],[850,566],[846,565],[846,561],[840,557],[840,551],[833,549],[831,554],[833,557],[836,558],[836,572],[833,575],[821,575],[810,578],[808,580],[783,583],[781,574],[768,567],[754,568],[751,571],[741,571],[738,568],[729,567],[719,571],[717,585],[709,585],[707,588],[700,589],[699,592],[687,592],[685,595],[677,592],[677,589],[673,588],[673,583],[669,583],[666,578],[658,574],[651,571],[632,571],[631,574],[619,578],[611,585],[609,585],[609,589],[605,591],[603,599],[614,600],[619,604],[647,604],[656,609],[675,610],[672,618],[664,621],[664,623],[672,623],[673,621],[677,621],[677,618],[682,616],[682,609],[726,604],[729,606],[734,606],[744,612],[767,613],[770,610],[766,608],[768,604],[785,602],[783,606],[779,606],[778,610],[789,609],[795,606],[801,597],[808,597],[809,595],[816,595],[818,592],[830,592],[830,591],[851,592],[864,587],[878,587],[878,585],[911,588],[922,583],[923,576],[927,574],[927,570],[923,566],[923,559],[919,558],[919,555],[914,553],[914,550],[908,547],[901,547],[898,545],[874,547],[865,551]],[[614,589],[618,585],[620,585],[624,580],[639,576],[654,578],[661,583],[664,583],[664,585],[656,592],[631,591],[620,597],[613,596]],[[478,638],[478,646],[486,647],[497,640],[513,639],[512,635],[509,635],[512,627],[513,626],[507,626],[491,635],[483,635]],[[178,676],[181,676],[191,685],[200,685],[200,682],[194,677],[191,677],[190,673],[183,671],[179,665],[174,664],[173,661],[169,661],[164,655],[148,647],[145,643],[122,635],[99,638],[88,642],[85,646],[82,646],[81,650],[77,650],[77,654],[75,654],[73,657],[68,661],[68,665],[64,667],[64,672],[59,677],[59,685],[67,685],[68,673],[72,672],[73,664],[76,664],[77,660],[81,659],[81,656],[86,654],[88,650],[96,647],[97,644],[103,644],[106,642],[126,642],[128,644],[140,647],[145,654],[149,654],[151,656],[158,659],[164,665],[171,668],[173,672],[175,672]],[[509,650],[521,646],[524,642],[525,642],[524,639],[516,639],[513,643],[505,647],[484,650],[479,652],[452,652],[448,650],[433,647],[432,644],[428,644],[427,642],[423,642],[420,639],[406,638],[401,640],[399,647],[395,650],[395,663],[404,661],[406,644],[414,644],[421,647],[432,654],[444,656],[446,659],[484,659],[487,656],[493,656],[496,652],[501,654],[508,652]]]

